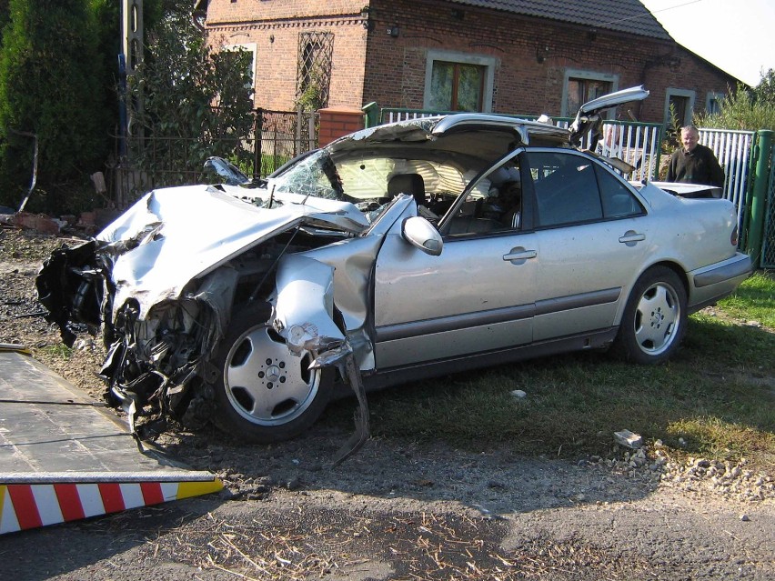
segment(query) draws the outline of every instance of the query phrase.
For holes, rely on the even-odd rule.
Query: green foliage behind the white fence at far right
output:
[[[695,125],[723,129],[775,130],[775,71],[762,75],[759,85],[738,85],[722,99],[718,113],[696,115]]]

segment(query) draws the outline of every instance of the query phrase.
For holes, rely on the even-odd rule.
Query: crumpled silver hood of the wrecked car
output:
[[[260,208],[211,185],[170,187],[143,196],[97,235],[110,243],[139,238],[136,247],[116,257],[114,316],[133,297],[145,318],[151,306],[176,298],[193,278],[297,225],[327,225],[354,234],[368,226],[346,202],[296,194],[278,194],[275,200],[275,207]]]

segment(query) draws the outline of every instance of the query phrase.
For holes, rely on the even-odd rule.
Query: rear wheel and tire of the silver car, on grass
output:
[[[634,363],[664,363],[679,348],[686,324],[683,283],[667,266],[653,266],[632,287],[616,350]]]

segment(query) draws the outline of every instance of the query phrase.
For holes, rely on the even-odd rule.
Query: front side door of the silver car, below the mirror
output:
[[[408,245],[400,220],[386,236],[374,275],[378,369],[532,340],[536,235],[521,229],[514,208],[486,207],[496,199],[488,175],[498,167],[504,176],[518,175],[514,159],[498,164],[458,198],[440,226],[445,233],[440,255]]]

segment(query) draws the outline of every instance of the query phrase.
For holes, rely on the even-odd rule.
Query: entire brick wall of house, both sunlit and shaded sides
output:
[[[364,5],[370,31],[360,15]],[[646,85],[649,99],[632,107],[642,121],[663,121],[668,87],[694,91],[699,110],[709,92],[726,93],[736,84],[669,41],[601,29],[590,34],[583,26],[442,0],[210,0],[207,26],[214,45],[256,44],[256,105],[272,109],[293,107],[298,35],[312,30],[334,34],[329,106],[376,101],[421,108],[430,50],[494,59],[496,113],[559,115],[569,69],[617,75],[619,88]],[[387,33],[393,27],[398,37]]]

